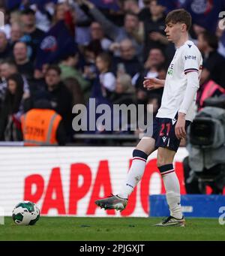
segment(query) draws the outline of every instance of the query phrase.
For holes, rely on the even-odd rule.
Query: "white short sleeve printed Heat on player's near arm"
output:
[[[183,53],[184,74],[189,72],[199,72],[199,53],[197,53],[195,46],[187,44],[187,49]]]

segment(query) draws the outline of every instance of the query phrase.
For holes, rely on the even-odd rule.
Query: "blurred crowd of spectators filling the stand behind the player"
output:
[[[89,98],[110,107],[153,104],[157,113],[163,89],[148,91],[142,82],[166,77],[175,47],[166,39],[164,20],[175,8],[193,17],[190,40],[203,56],[202,107],[208,86],[216,86],[208,97],[225,94],[223,0],[1,0],[0,140],[23,140],[21,116],[38,108],[62,117],[55,136],[60,145],[72,143],[72,108],[89,108]]]

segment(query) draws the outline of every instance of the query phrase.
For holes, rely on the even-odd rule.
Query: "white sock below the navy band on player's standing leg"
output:
[[[180,184],[174,170],[165,171],[162,174],[166,189],[166,201],[172,217],[182,218]]]

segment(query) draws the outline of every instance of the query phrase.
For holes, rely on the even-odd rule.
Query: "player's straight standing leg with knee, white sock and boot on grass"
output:
[[[166,189],[166,201],[169,205],[170,216],[157,225],[184,227],[184,218],[181,211],[180,185],[172,165],[174,156],[175,151],[163,147],[158,148],[157,167],[160,170]]]

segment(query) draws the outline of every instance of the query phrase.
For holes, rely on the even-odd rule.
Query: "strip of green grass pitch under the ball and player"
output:
[[[40,217],[34,226],[18,226],[10,217],[0,225],[0,240],[63,241],[213,241],[225,240],[225,224],[216,218],[187,218],[186,227],[153,227],[160,218]]]

